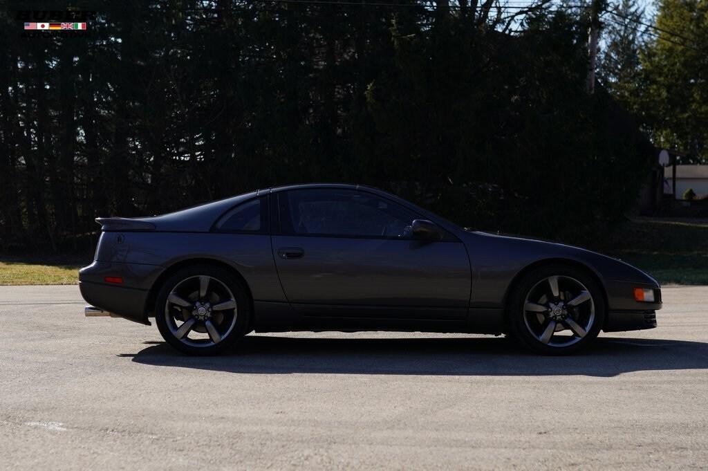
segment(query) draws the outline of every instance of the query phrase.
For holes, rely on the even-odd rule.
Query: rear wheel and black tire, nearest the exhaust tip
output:
[[[155,301],[160,334],[188,355],[210,356],[231,348],[247,333],[250,317],[251,297],[241,281],[224,268],[206,264],[173,273]]]

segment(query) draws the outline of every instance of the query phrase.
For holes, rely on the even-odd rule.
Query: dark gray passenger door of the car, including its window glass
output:
[[[306,316],[464,319],[470,268],[462,242],[411,234],[421,218],[354,189],[275,193],[273,256],[285,296]]]

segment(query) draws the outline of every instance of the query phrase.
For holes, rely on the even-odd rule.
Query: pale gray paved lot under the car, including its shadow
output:
[[[0,287],[0,468],[708,466],[708,287],[588,353],[502,338],[251,334],[188,358],[84,318],[75,286]]]

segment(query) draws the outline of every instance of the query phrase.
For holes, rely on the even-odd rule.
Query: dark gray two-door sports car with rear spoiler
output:
[[[576,247],[469,232],[375,188],[268,188],[167,215],[98,218],[86,315],[149,325],[184,353],[250,331],[507,334],[570,353],[651,329],[661,290]]]

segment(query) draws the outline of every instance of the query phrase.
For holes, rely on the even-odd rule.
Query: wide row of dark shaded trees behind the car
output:
[[[585,92],[587,25],[539,9],[508,35],[407,3],[72,3],[98,11],[87,39],[21,38],[1,13],[0,249],[306,181],[545,237],[621,218],[648,162]]]

